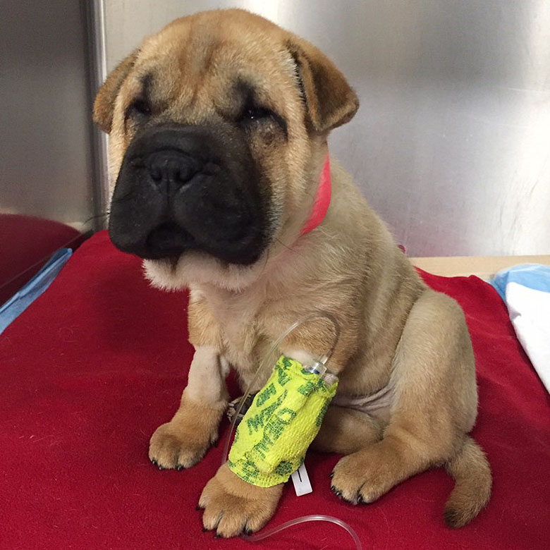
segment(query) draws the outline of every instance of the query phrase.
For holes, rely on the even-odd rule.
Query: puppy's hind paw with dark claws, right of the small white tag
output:
[[[331,489],[339,499],[352,504],[371,503],[399,481],[393,460],[367,448],[338,461],[332,473]]]

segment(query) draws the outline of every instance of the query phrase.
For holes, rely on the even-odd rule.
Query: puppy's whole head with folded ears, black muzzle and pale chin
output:
[[[109,233],[165,288],[239,288],[307,219],[326,135],[357,97],[311,44],[240,10],[145,39],[94,103],[116,180]]]

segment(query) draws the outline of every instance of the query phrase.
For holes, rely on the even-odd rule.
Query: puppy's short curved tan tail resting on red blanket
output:
[[[460,451],[445,465],[455,487],[445,505],[445,523],[462,527],[487,506],[491,496],[491,468],[482,448],[466,436]]]

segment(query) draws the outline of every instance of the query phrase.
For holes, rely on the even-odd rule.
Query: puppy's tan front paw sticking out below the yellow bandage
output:
[[[283,484],[256,487],[237,477],[227,464],[204,487],[199,499],[204,508],[204,530],[218,537],[236,537],[261,529],[271,518],[283,492]]]

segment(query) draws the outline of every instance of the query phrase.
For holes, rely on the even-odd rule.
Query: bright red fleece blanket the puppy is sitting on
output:
[[[348,522],[364,549],[542,549],[548,544],[549,399],[499,295],[476,277],[424,274],[463,306],[477,357],[474,435],[494,472],[489,507],[470,525],[444,525],[452,482],[443,470],[408,479],[368,506],[331,493],[337,456],[309,453],[314,492],[291,484],[270,526],[324,513]],[[170,419],[193,349],[186,294],[149,288],[140,262],[105,232],[0,336],[1,549],[250,549],[213,539],[195,505],[221,445],[192,470],[162,471],[149,436]],[[221,441],[227,423],[221,427]],[[544,533],[546,532],[546,535]],[[546,543],[544,540],[546,539]],[[257,546],[353,549],[340,527],[292,527]]]

